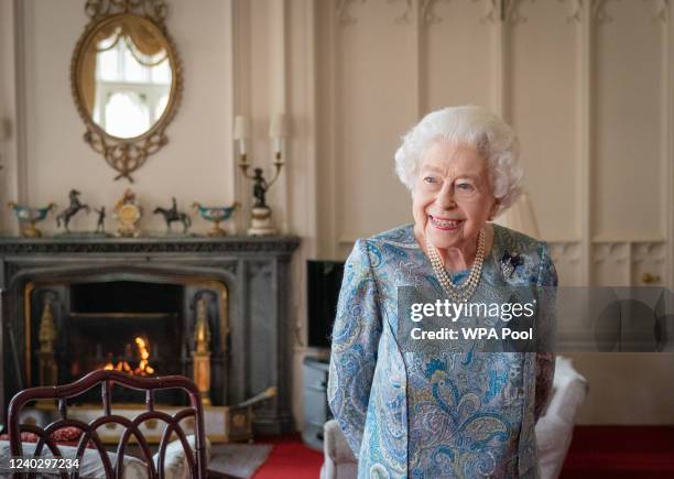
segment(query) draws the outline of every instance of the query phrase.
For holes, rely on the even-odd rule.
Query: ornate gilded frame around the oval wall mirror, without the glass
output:
[[[183,96],[183,66],[164,23],[167,8],[164,0],[87,0],[85,12],[90,21],[79,36],[70,61],[70,91],[77,112],[87,128],[84,140],[102,154],[106,162],[119,173],[115,179],[127,178],[133,183],[131,173],[140,168],[149,155],[156,153],[168,142],[166,127],[173,120]],[[112,137],[96,124],[84,106],[79,85],[80,63],[89,39],[100,25],[126,14],[134,14],[150,21],[164,35],[172,69],[171,91],[164,112],[150,130],[134,138]]]

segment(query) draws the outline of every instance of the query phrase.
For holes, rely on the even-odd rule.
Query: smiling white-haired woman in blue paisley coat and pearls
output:
[[[554,291],[547,246],[490,222],[520,194],[515,134],[483,108],[446,108],[403,138],[395,170],[414,224],[356,242],[333,331],[328,401],[358,476],[539,477],[534,424],[552,353],[457,352],[447,342],[428,355],[403,350],[398,337],[400,286],[456,303]],[[552,303],[537,303],[536,315],[550,319]]]

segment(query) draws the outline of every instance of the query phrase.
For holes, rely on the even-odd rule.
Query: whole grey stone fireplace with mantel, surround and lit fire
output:
[[[0,238],[1,411],[23,388],[111,367],[193,378],[214,409],[274,387],[278,395],[259,405],[253,429],[292,431],[289,270],[297,243]]]

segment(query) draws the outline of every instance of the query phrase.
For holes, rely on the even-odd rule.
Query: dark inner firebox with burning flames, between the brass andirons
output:
[[[70,382],[95,369],[134,375],[184,373],[181,347],[188,338],[184,335],[183,296],[180,284],[72,284],[65,337],[59,341],[66,374],[58,382]]]

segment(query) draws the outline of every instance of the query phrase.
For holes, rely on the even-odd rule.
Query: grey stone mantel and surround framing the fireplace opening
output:
[[[221,390],[213,391],[214,399],[220,399],[224,404],[219,405],[233,405],[275,385],[278,396],[259,406],[254,429],[261,434],[292,431],[287,298],[290,260],[298,242],[295,237],[0,238],[2,416],[17,391],[36,385],[34,374],[30,374],[31,384],[26,382],[25,326],[26,309],[33,309],[32,298],[40,296],[26,289],[55,293],[56,303],[62,302],[54,311],[59,324],[58,315],[67,312],[63,307],[67,293],[59,298],[59,291],[70,282],[154,281],[185,284],[186,291],[191,289],[187,297],[208,291],[208,284],[224,285],[226,301],[214,300],[209,309],[216,326],[226,325],[221,366],[214,367],[218,378],[211,378],[211,385]],[[32,320],[36,314],[31,313]],[[188,309],[185,314],[192,320]]]

